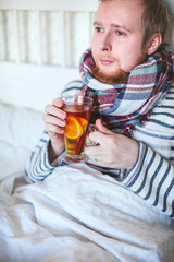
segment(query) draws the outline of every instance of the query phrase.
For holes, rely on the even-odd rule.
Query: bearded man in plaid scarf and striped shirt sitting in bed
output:
[[[174,55],[163,46],[167,13],[161,0],[101,0],[91,50],[80,62],[82,93],[94,97],[97,146],[86,148],[97,166],[115,169],[117,180],[174,216],[172,135]],[[46,139],[26,168],[35,182],[59,166],[66,114],[55,98],[46,106]],[[163,145],[163,146],[160,146]],[[41,167],[40,167],[41,165]]]

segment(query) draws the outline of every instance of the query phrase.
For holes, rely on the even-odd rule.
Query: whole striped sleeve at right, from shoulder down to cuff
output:
[[[123,174],[136,194],[174,217],[174,86],[152,110],[145,127],[137,127],[138,159]]]

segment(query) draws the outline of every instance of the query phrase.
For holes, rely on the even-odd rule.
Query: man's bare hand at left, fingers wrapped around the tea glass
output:
[[[52,105],[45,107],[46,115],[44,121],[46,130],[50,136],[49,158],[54,160],[64,150],[64,127],[66,124],[66,112],[62,110],[64,103],[60,98],[55,98]]]

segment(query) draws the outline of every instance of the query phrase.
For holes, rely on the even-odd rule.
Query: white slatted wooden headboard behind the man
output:
[[[174,47],[173,0],[167,41]],[[0,0],[0,100],[44,110],[79,79],[98,0]]]

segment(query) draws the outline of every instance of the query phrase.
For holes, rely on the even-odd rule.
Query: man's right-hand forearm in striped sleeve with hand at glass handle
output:
[[[174,217],[174,166],[145,143],[111,132],[100,120],[96,124],[100,132],[91,133],[90,140],[99,145],[86,150],[89,158],[122,169],[120,182]]]

